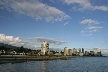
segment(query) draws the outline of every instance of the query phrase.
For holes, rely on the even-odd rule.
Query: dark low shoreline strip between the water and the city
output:
[[[68,60],[76,57],[106,57],[106,56],[0,56],[0,64],[21,63],[28,61]]]

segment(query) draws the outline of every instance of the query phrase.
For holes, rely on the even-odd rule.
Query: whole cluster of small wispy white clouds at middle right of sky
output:
[[[85,28],[80,32],[83,36],[91,36],[93,33],[98,32],[103,26],[99,26],[102,22],[85,19],[80,22],[81,25],[85,25]]]

